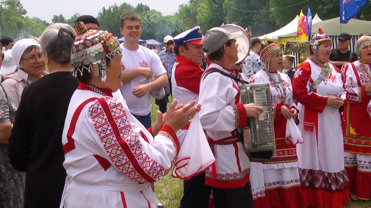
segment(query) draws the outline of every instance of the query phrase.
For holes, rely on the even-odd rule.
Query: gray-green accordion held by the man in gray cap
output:
[[[254,103],[264,109],[257,118],[248,117],[247,126],[239,129],[244,151],[249,153],[252,162],[269,161],[276,150],[269,84],[244,84],[239,88],[243,104]]]

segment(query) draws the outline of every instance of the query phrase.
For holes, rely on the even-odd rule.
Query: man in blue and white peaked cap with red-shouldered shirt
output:
[[[176,56],[171,76],[173,99],[178,103],[189,103],[198,100],[200,80],[203,69],[200,67],[203,57],[203,36],[200,26],[184,31],[174,37]],[[177,131],[177,137],[183,141],[189,125]],[[198,138],[194,138],[198,139]],[[205,172],[201,170],[190,180],[183,181],[183,197],[181,208],[206,208],[209,202],[211,188],[205,185]]]

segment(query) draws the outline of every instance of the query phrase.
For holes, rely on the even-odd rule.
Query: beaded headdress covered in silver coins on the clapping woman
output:
[[[88,30],[82,21],[75,23],[75,30],[78,36],[72,45],[71,64],[73,76],[82,76],[84,69],[91,72],[91,64],[95,77],[101,77],[106,81],[107,61],[115,57],[115,53],[122,52],[117,37],[112,33],[103,30]]]

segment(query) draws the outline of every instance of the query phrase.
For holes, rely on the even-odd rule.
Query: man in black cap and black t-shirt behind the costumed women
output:
[[[350,39],[351,36],[348,33],[341,33],[338,39],[338,47],[332,49],[332,53],[329,57],[330,62],[339,69],[341,69],[344,64],[358,60],[357,54],[348,50]]]

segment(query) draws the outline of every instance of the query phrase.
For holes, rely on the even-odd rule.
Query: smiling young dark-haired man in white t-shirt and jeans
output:
[[[136,13],[125,13],[120,17],[120,33],[125,37],[122,48],[121,87],[130,113],[146,128],[151,127],[151,95],[150,92],[164,87],[168,83],[166,70],[158,55],[143,46],[138,40],[142,34],[141,19]],[[152,74],[156,79],[149,82]]]

